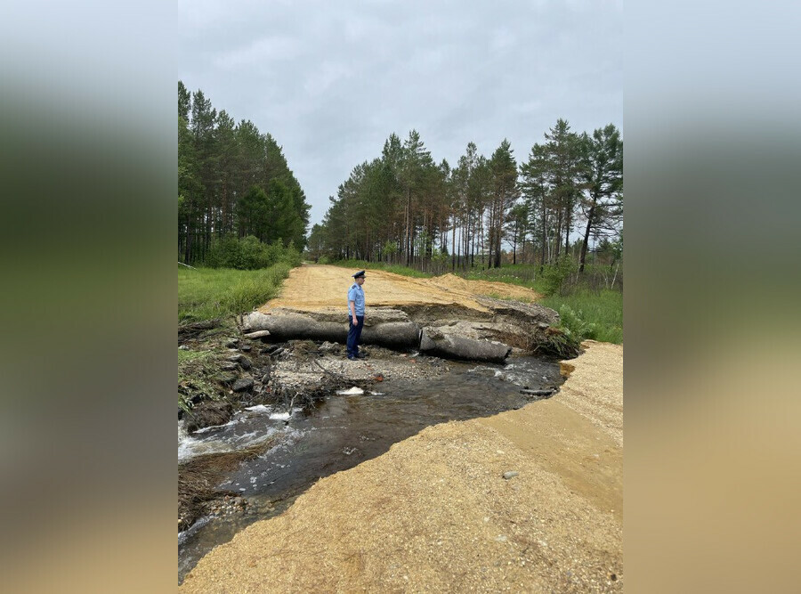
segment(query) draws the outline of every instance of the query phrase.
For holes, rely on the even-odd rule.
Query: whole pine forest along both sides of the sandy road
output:
[[[612,258],[621,253],[623,141],[613,124],[578,133],[560,118],[521,162],[505,139],[489,159],[468,142],[452,167],[433,159],[416,130],[403,141],[391,134],[380,156],[354,167],[329,201],[307,240],[310,207],[271,134],[249,120],[235,123],[179,81],[178,256],[185,264],[226,265],[237,249],[270,244],[306,248],[316,261],[434,273],[502,261],[557,264],[570,255],[580,272],[590,246]]]

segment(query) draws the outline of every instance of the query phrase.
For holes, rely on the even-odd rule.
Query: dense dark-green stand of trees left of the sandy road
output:
[[[303,249],[308,224],[303,189],[271,134],[179,81],[179,261],[203,262],[223,240],[247,236]]]

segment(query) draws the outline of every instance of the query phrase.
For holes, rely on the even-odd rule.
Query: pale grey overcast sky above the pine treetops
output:
[[[353,167],[417,129],[436,162],[557,118],[622,129],[622,1],[181,0],[179,78],[283,148],[320,223]]]

